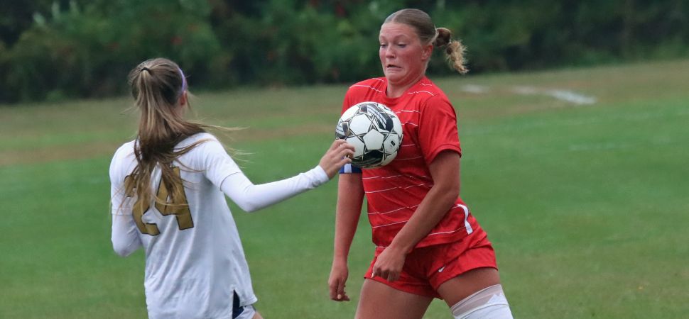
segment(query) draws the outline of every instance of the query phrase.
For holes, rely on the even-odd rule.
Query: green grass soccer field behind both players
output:
[[[689,60],[435,79],[460,118],[462,197],[494,242],[515,318],[686,318],[687,74]],[[198,94],[192,106],[248,128],[227,142],[251,153],[244,172],[261,183],[318,162],[345,89]],[[107,172],[134,135],[130,103],[0,106],[0,318],[146,317],[143,254],[121,259],[109,241]],[[336,184],[254,214],[232,206],[265,318],[353,317],[373,245],[362,216],[354,301],[329,301]],[[434,301],[425,318],[450,315]]]

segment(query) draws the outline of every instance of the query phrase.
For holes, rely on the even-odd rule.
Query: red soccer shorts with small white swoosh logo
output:
[[[407,254],[399,279],[392,282],[379,276],[371,278],[373,265],[383,250],[381,247],[376,248],[375,257],[364,278],[421,296],[440,298],[437,292],[440,284],[472,269],[497,269],[493,246],[482,228],[475,229],[473,233],[457,242],[412,250]]]

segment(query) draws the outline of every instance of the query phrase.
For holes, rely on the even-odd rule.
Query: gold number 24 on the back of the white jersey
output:
[[[175,174],[178,177],[180,177],[181,180],[180,168],[173,167],[173,172],[175,172]],[[127,179],[129,179],[130,176],[125,177],[125,184],[127,183]],[[134,196],[134,194],[127,194],[127,196]],[[156,196],[158,196],[158,198],[166,198],[166,201],[170,199],[168,198],[168,188],[165,186],[165,183],[163,183],[163,181],[161,181],[160,185],[158,186],[158,194]],[[152,236],[160,234],[161,231],[158,230],[158,225],[156,225],[155,223],[143,222],[143,215],[148,213],[148,208],[151,208],[151,206],[143,206],[141,205],[141,203],[139,203],[139,201],[141,201],[141,199],[137,198],[136,203],[134,203],[134,210],[132,211],[132,215],[134,216],[134,222],[136,222],[136,227],[139,228],[139,231],[141,231],[141,233],[143,234],[148,234]],[[180,230],[185,230],[194,227],[194,220],[192,220],[191,218],[191,211],[189,210],[187,196],[184,194],[184,192],[182,193],[181,198],[178,198],[176,203],[168,202],[162,204],[156,202],[156,209],[159,212],[161,212],[163,216],[175,215]]]

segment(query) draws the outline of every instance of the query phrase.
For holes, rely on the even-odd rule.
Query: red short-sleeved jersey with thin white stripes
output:
[[[359,82],[349,87],[342,103],[343,113],[364,101],[382,103],[402,123],[403,140],[397,157],[384,167],[362,170],[373,242],[379,247],[390,245],[430,191],[433,178],[428,164],[435,156],[443,150],[462,154],[455,109],[430,79],[423,77],[396,99],[386,96],[386,88],[384,77]],[[416,247],[455,242],[477,228],[477,221],[457,198]]]

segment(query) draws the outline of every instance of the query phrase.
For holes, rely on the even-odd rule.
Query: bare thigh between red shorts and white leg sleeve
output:
[[[471,296],[472,293],[497,284],[500,284],[498,269],[482,267],[472,269],[440,284],[438,294],[445,300],[447,306],[452,307],[455,303]]]

